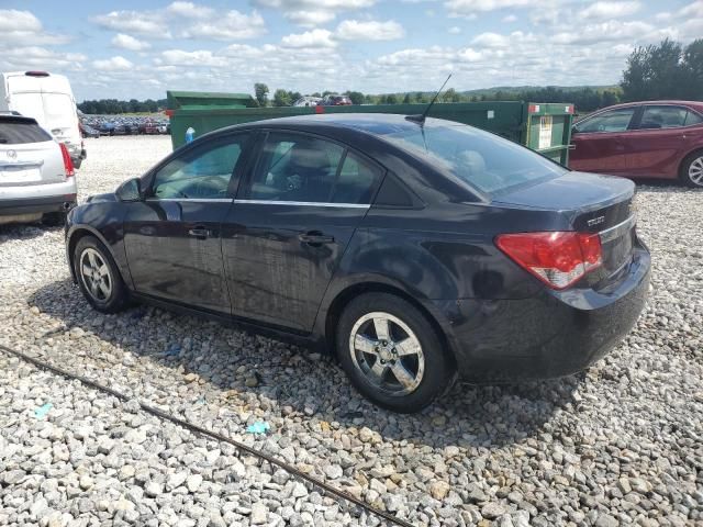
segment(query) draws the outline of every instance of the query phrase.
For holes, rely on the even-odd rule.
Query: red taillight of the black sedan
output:
[[[553,289],[568,288],[603,262],[598,234],[501,234],[495,245]]]

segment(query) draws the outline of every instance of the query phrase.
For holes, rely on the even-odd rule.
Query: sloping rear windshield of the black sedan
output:
[[[566,168],[523,146],[464,124],[402,126],[379,134],[488,194],[561,176]]]

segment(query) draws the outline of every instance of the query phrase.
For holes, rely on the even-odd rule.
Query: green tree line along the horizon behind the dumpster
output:
[[[479,90],[477,90],[479,91]],[[332,91],[310,93],[325,97]],[[354,104],[413,104],[428,103],[433,92],[412,91],[382,94],[366,94],[360,91],[345,91]],[[270,97],[269,97],[270,96]],[[290,106],[303,97],[299,91],[282,88],[272,96],[264,82],[254,85],[254,97],[249,106]],[[703,100],[703,38],[688,46],[669,38],[659,45],[640,46],[627,58],[620,86],[605,88],[504,88],[480,90],[480,93],[460,92],[449,88],[443,92],[439,102],[484,102],[484,101],[529,101],[573,103],[579,113],[592,112],[618,102],[657,99]],[[78,104],[83,113],[134,113],[157,112],[166,108],[166,99],[157,101],[119,101],[101,99]]]

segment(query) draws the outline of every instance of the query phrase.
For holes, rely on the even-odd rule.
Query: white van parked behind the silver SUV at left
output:
[[[0,74],[0,111],[33,117],[66,145],[76,168],[86,158],[76,100],[68,79],[46,71]]]

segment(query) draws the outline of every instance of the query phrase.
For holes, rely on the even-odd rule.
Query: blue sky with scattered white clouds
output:
[[[667,36],[703,37],[703,0],[0,0],[0,71],[64,74],[78,101],[613,85]]]

